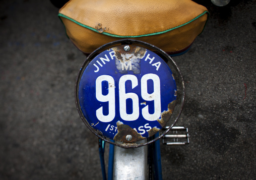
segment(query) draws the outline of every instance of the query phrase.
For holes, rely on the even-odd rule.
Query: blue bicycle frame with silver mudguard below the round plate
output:
[[[158,136],[159,133],[154,136]],[[155,137],[153,137],[155,138]],[[146,142],[146,140],[143,140]],[[124,149],[110,144],[108,176],[104,162],[105,141],[99,139],[99,152],[103,180],[116,179],[162,179],[160,140],[147,146]],[[103,153],[102,153],[103,152]]]

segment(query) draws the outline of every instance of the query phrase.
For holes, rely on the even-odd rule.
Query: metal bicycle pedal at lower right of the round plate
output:
[[[169,126],[163,128],[168,129]],[[173,139],[173,140],[171,140]],[[174,126],[170,131],[163,136],[163,144],[166,145],[185,145],[189,144],[188,128],[182,126]]]

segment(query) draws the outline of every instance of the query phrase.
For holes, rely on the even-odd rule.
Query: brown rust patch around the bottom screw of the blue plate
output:
[[[122,142],[135,142],[135,141],[139,141],[146,138],[146,137],[142,137],[141,134],[139,134],[136,130],[134,130],[129,125],[123,124],[120,121],[117,121],[116,125],[117,125],[118,132],[114,136],[114,140],[122,141]],[[127,141],[126,135],[132,135],[133,139],[131,141]]]

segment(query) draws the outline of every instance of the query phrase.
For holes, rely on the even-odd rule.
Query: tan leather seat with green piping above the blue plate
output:
[[[203,31],[208,11],[190,0],[71,0],[58,16],[84,53],[129,38],[173,54],[186,50]]]

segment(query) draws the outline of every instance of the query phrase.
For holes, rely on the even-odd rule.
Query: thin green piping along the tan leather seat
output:
[[[169,29],[169,30],[157,32],[157,33],[151,33],[151,34],[146,34],[146,35],[138,35],[138,36],[119,36],[119,35],[113,35],[113,34],[106,33],[106,32],[103,32],[103,33],[101,33],[101,34],[107,35],[107,36],[116,37],[116,38],[139,38],[139,37],[145,37],[145,36],[159,35],[159,34],[167,33],[167,32],[172,31],[172,30],[174,30],[174,29],[180,28],[180,27],[182,27],[182,26],[185,26],[185,25],[187,25],[187,24],[189,24],[189,23],[195,21],[196,19],[200,18],[201,16],[205,15],[206,13],[209,14],[208,11],[205,11],[204,13],[202,13],[201,15],[199,15],[198,17],[194,18],[193,20],[190,20],[190,21],[187,22],[187,23],[184,23],[183,25],[177,26],[177,27],[175,27],[175,28],[171,28],[171,29]],[[76,23],[76,24],[78,24],[78,25],[80,25],[80,26],[82,26],[82,27],[84,27],[84,28],[87,28],[87,29],[90,29],[90,30],[92,30],[92,31],[95,31],[95,32],[99,33],[96,29],[91,28],[91,27],[86,26],[86,25],[83,25],[83,24],[77,22],[76,20],[73,20],[73,19],[71,19],[70,17],[67,17],[67,16],[65,16],[65,15],[63,15],[63,14],[60,14],[60,13],[59,13],[58,16],[59,16],[59,17],[63,17],[63,18],[67,18],[68,20],[73,21],[74,23]]]

